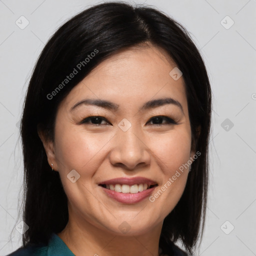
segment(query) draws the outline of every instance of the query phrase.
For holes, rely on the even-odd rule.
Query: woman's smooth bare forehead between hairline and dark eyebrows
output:
[[[174,61],[161,48],[136,46],[99,63],[67,95],[65,105],[84,98],[111,100],[122,107],[139,106],[153,98],[170,96],[186,109],[182,76],[174,80],[170,71]]]

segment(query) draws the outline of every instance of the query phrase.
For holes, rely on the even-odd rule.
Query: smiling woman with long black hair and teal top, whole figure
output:
[[[16,255],[187,255],[203,230],[211,91],[186,30],[108,2],[42,50],[21,121]],[[200,232],[201,231],[201,232]]]

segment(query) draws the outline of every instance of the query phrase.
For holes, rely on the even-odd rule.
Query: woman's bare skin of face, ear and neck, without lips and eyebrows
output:
[[[105,195],[98,183],[117,177],[142,176],[161,187],[189,160],[191,131],[182,76],[174,80],[169,72],[175,63],[164,50],[149,45],[122,50],[96,66],[60,103],[54,142],[43,132],[48,163],[59,171],[68,198],[69,220],[58,233],[75,255],[158,255],[164,217],[180,199],[188,168],[157,198],[123,204]],[[147,101],[172,97],[179,101],[147,110]],[[118,110],[77,102],[104,99],[118,104]],[[102,116],[101,125],[79,123]],[[151,117],[164,115],[176,124]],[[126,118],[131,127],[123,131],[118,123]],[[72,183],[67,174],[75,169],[80,178]],[[126,221],[130,230],[118,226]]]

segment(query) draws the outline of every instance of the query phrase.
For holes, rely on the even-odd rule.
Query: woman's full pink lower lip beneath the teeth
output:
[[[147,196],[150,195],[150,193],[154,190],[156,186],[143,190],[142,192],[137,192],[137,193],[121,193],[111,189],[107,189],[103,186],[100,186],[100,187],[103,189],[106,195],[115,199],[116,201],[132,204],[132,203],[140,202],[143,199],[145,199]]]

